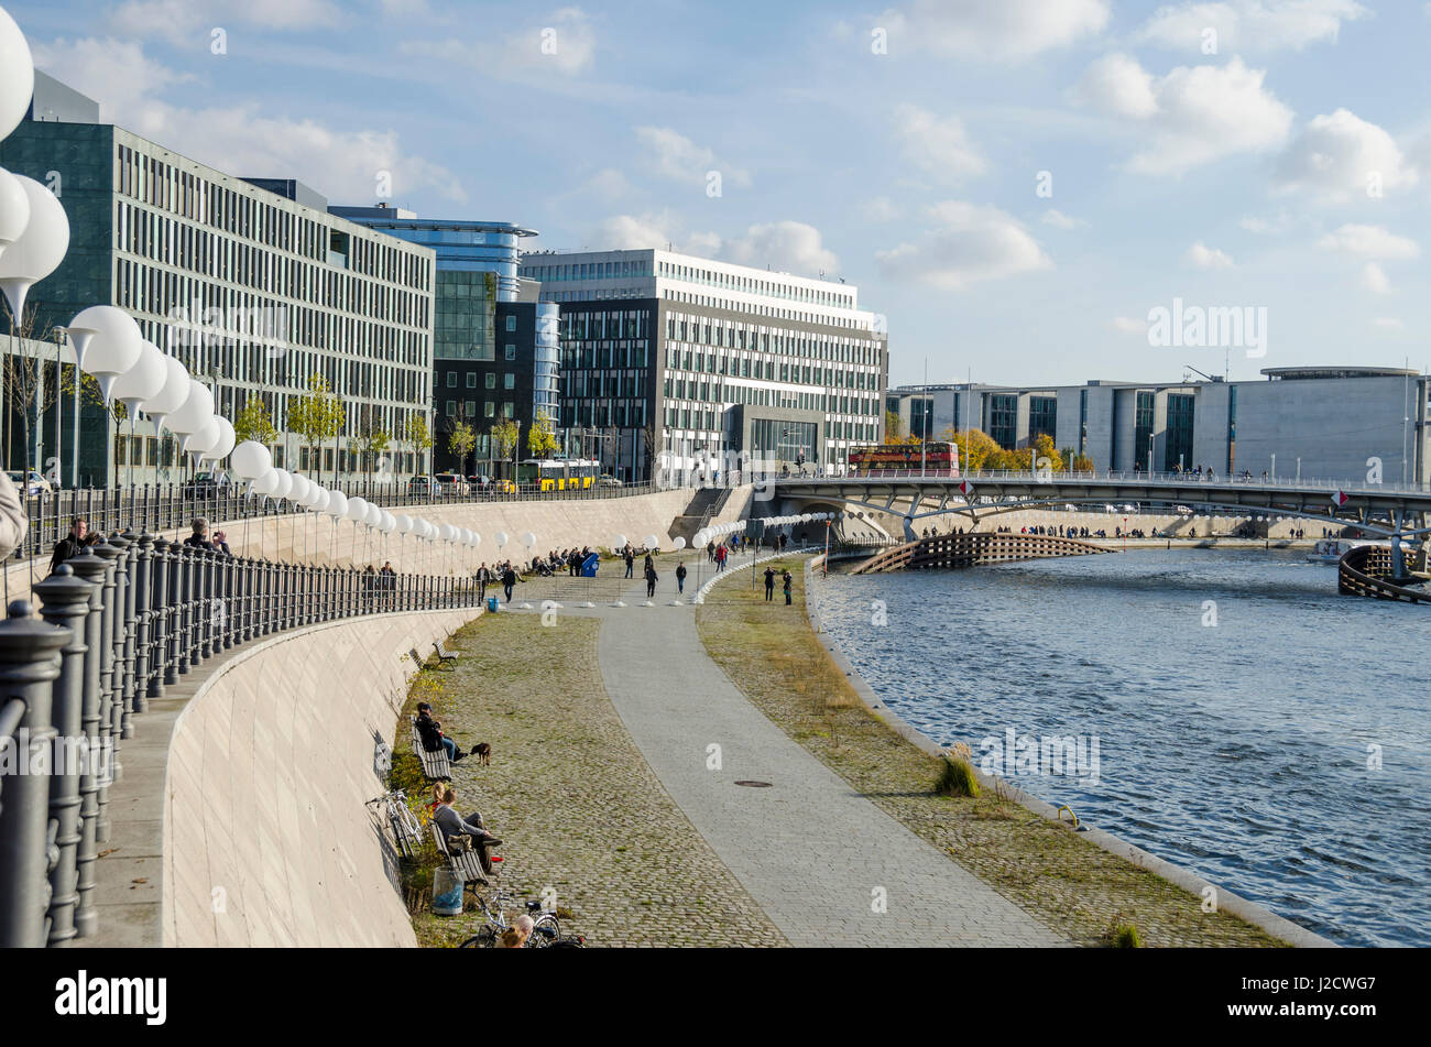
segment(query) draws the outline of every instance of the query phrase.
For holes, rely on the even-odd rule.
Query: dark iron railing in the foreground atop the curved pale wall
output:
[[[243,559],[126,532],[0,622],[0,947],[96,931],[110,787],[135,718],[205,659],[319,622],[477,608],[474,579]]]

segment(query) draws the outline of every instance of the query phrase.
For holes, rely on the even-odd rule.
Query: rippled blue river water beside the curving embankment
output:
[[[1334,941],[1431,945],[1431,608],[1304,555],[831,574],[820,605],[890,708],[1020,788]]]

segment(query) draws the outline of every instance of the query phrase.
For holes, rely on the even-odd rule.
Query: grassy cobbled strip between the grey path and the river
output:
[[[707,652],[747,699],[886,814],[1075,944],[1105,944],[1133,924],[1146,945],[1278,947],[1285,943],[1109,854],[1066,825],[986,790],[937,795],[940,757],[902,737],[861,701],[810,628],[800,556],[793,605],[746,585],[717,585],[697,625]]]

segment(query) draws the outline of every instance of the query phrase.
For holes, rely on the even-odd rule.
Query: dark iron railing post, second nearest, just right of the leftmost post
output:
[[[50,818],[57,822],[59,861],[50,870],[50,945],[67,945],[79,934],[79,845],[82,840],[80,774],[99,752],[89,749],[84,732],[84,622],[89,618],[92,582],[60,564],[34,586],[40,616],[69,634],[60,652],[60,675],[52,688],[50,719],[57,741],[50,767]]]

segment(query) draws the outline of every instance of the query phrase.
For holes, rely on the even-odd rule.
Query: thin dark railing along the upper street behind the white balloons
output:
[[[514,483],[511,489],[499,485],[481,488],[472,485],[448,493],[399,492],[381,485],[353,482],[341,483],[348,498],[362,496],[385,509],[399,506],[422,506],[439,509],[455,505],[487,502],[551,502],[551,501],[595,501],[608,498],[631,498],[648,495],[665,488],[653,483],[627,486],[591,486],[574,491],[542,491],[539,483]],[[275,501],[260,495],[245,495],[242,486],[219,488],[210,493],[197,493],[193,488],[179,483],[135,485],[132,488],[82,488],[77,491],[56,491],[29,495],[26,512],[30,526],[14,554],[14,559],[30,559],[49,555],[70,531],[70,521],[83,516],[90,531],[110,532],[133,528],[137,531],[187,529],[189,522],[203,516],[212,524],[220,521],[258,519],[262,516],[285,516],[302,512],[288,501]]]

